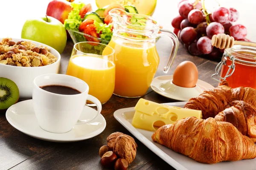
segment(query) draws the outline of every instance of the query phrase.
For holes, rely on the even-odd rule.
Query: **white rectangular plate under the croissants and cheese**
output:
[[[165,105],[183,108],[186,102],[165,103]],[[151,151],[157,154],[177,170],[256,170],[256,159],[241,161],[222,161],[217,164],[203,164],[169,148],[162,146],[151,139],[153,131],[135,128],[131,125],[134,116],[134,108],[124,108],[115,111],[114,117],[140,142],[145,144]]]

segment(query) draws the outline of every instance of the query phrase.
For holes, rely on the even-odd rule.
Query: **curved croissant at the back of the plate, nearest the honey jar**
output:
[[[217,88],[206,90],[198,97],[189,99],[184,108],[201,110],[202,118],[207,119],[229,108],[235,100],[242,100],[255,107],[256,90],[244,87],[231,88],[223,81]]]

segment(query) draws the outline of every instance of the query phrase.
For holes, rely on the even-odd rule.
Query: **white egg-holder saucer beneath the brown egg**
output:
[[[178,86],[171,83],[172,77],[173,77],[172,75],[155,77],[153,79],[153,81],[151,82],[150,87],[157,94],[165,96],[169,99],[175,99],[175,100],[179,100],[179,101],[188,101],[190,98],[198,96],[203,91],[205,91],[207,89],[210,89],[210,88],[214,88],[209,83],[204,82],[200,79],[198,79],[198,82],[196,84],[196,88],[178,87]],[[179,89],[175,89],[177,87]],[[196,92],[191,91],[191,90],[195,90],[195,89],[197,90]],[[183,92],[183,94],[179,94],[180,92]]]

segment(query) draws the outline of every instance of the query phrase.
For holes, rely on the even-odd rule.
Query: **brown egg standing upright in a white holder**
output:
[[[183,61],[174,71],[172,83],[183,87],[193,88],[198,81],[198,69],[193,62]]]

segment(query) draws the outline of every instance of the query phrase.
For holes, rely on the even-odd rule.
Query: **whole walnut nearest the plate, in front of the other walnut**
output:
[[[136,143],[131,138],[121,135],[116,138],[113,144],[113,152],[116,153],[119,158],[126,159],[128,164],[131,164],[136,156],[136,147]]]

